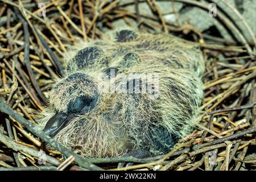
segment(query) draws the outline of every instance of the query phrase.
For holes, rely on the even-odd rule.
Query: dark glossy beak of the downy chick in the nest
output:
[[[52,118],[46,123],[44,127],[44,133],[49,137],[54,137],[61,129],[65,127],[68,123],[68,115],[64,113],[56,113]]]

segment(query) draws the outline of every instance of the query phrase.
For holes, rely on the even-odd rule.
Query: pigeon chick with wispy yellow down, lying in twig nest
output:
[[[144,158],[170,151],[191,131],[203,99],[204,58],[195,44],[121,30],[68,55],[39,121],[64,146],[92,158]]]

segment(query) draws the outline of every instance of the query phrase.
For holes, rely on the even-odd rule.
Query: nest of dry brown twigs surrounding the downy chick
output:
[[[230,42],[213,30],[200,32],[192,24],[166,22],[155,0],[143,1],[154,16],[143,15],[141,2],[0,0],[0,170],[117,169],[118,162],[134,162],[122,170],[256,169],[256,41],[250,26],[225,3],[216,18],[232,35]],[[205,2],[171,2],[208,11]],[[133,12],[125,9],[128,5],[134,6]],[[227,15],[225,9],[234,14]],[[195,121],[195,131],[166,155],[87,159],[37,130],[35,119],[46,104],[47,88],[63,72],[63,53],[79,39],[101,38],[119,19],[139,30],[200,43],[204,52],[204,113]],[[44,142],[59,152],[44,149]]]

